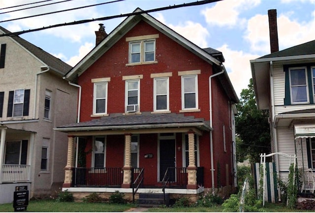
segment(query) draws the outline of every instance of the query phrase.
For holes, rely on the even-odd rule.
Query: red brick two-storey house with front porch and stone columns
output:
[[[138,193],[161,193],[167,183],[169,194],[197,197],[236,186],[238,97],[222,53],[146,13],[95,33],[95,48],[65,75],[80,102],[78,123],[55,128],[69,138],[63,190],[131,193],[139,183]]]

